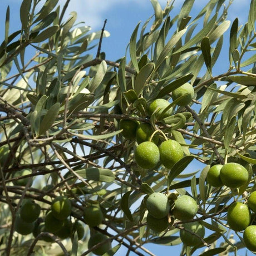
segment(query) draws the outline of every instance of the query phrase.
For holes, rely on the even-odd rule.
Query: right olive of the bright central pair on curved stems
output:
[[[168,169],[171,169],[184,155],[181,145],[175,140],[162,142],[159,146],[159,153],[161,163]]]

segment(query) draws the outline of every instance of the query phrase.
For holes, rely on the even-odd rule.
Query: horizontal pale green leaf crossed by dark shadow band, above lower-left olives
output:
[[[115,174],[109,169],[87,168],[78,170],[76,173],[87,180],[103,181],[106,183],[115,180]]]

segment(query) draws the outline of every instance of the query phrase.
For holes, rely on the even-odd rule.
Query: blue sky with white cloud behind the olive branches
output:
[[[11,9],[10,32],[19,29],[19,5],[22,0],[0,0],[0,40],[4,38],[4,21],[6,8],[9,5]],[[44,2],[44,1],[43,1]],[[159,0],[161,6],[164,7],[166,1]],[[173,16],[179,13],[183,4],[183,0],[176,0]],[[195,0],[195,6],[191,15],[198,13],[208,0]],[[226,1],[227,2],[227,1]],[[65,0],[60,0],[65,3]],[[232,7],[229,9],[228,19],[233,22],[235,17],[239,18],[239,24],[247,22],[248,10],[250,6],[249,0],[234,0]],[[77,12],[77,22],[85,22],[86,26],[91,26],[92,31],[99,31],[107,19],[106,30],[110,32],[110,37],[104,38],[102,42],[102,51],[106,52],[107,60],[115,61],[125,56],[127,44],[130,41],[132,31],[139,21],[144,23],[154,10],[150,0],[71,0],[67,9],[66,18],[71,11]],[[225,33],[225,40],[228,42],[229,31]],[[228,46],[228,45],[227,45]],[[226,51],[226,52],[225,52]],[[222,68],[228,69],[228,48],[224,48],[223,66],[216,67],[216,72],[225,72]],[[199,169],[201,167],[194,166]],[[162,247],[153,244],[145,245],[152,253],[158,255],[179,255],[180,246]],[[240,255],[243,255],[243,253]],[[125,251],[120,249],[117,256],[125,255]],[[130,254],[134,255],[134,254]],[[252,255],[248,253],[248,255]]]

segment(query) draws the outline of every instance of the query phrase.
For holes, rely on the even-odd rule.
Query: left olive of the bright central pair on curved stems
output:
[[[143,169],[154,168],[159,162],[159,149],[150,141],[142,142],[136,147],[135,161]]]

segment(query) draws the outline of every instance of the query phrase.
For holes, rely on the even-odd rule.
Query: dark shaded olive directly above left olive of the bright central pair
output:
[[[141,123],[136,130],[136,141],[138,144],[142,142],[149,141],[151,135],[153,134],[154,130],[150,124]],[[155,134],[152,138],[152,142],[157,144],[159,141],[159,136]]]

